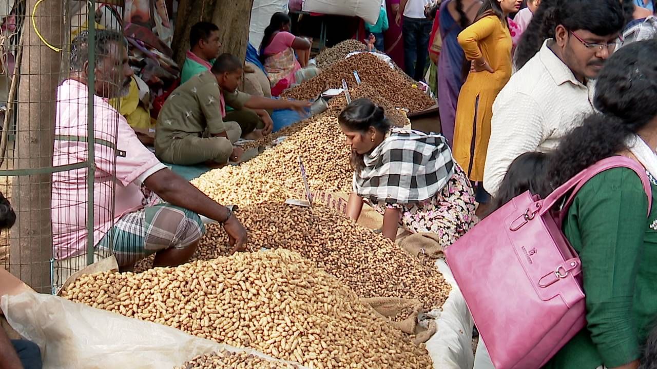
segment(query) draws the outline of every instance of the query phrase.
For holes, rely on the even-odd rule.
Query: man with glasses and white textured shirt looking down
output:
[[[562,0],[555,37],[545,40],[493,104],[484,186],[493,197],[510,163],[524,152],[547,152],[594,111],[593,83],[614,53],[625,25],[618,0]]]

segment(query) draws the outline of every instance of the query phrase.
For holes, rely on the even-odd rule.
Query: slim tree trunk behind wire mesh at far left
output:
[[[31,12],[37,0],[26,3]],[[45,40],[64,45],[64,0],[42,2],[34,20]],[[44,45],[29,17],[25,22],[14,169],[48,169],[53,163],[61,54]],[[51,174],[40,173],[14,177],[12,188],[17,222],[11,231],[10,271],[38,292],[51,291],[51,187]]]

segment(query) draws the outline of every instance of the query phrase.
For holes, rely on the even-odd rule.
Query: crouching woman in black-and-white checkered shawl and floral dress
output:
[[[434,233],[443,248],[476,223],[470,181],[442,135],[391,127],[383,108],[367,98],[351,102],[338,121],[351,146],[351,219],[365,201],[383,215],[384,236],[395,240],[399,227]]]

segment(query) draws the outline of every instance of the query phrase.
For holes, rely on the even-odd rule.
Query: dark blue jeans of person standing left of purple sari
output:
[[[406,16],[401,25],[404,38],[404,71],[416,81],[424,81],[432,26],[431,20]]]

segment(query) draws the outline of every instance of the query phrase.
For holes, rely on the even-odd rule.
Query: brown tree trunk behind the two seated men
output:
[[[181,0],[173,36],[173,58],[179,66],[189,50],[189,30],[196,22],[212,22],[219,26],[221,53],[246,58],[251,8],[254,0]]]

